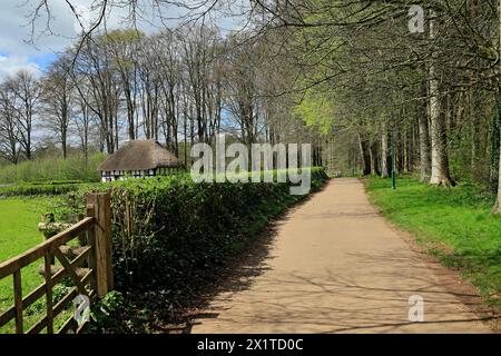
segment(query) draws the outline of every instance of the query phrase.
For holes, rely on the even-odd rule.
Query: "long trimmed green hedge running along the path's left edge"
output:
[[[322,168],[312,168],[313,190],[326,179]],[[95,186],[92,191],[111,192],[117,288],[178,293],[304,198],[289,195],[289,186],[195,184],[189,175]],[[82,209],[84,196],[82,190],[69,195],[66,206]]]

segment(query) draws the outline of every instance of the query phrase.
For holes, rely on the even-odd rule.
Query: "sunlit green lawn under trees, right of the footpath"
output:
[[[459,268],[485,300],[501,306],[501,218],[494,197],[473,185],[430,187],[411,178],[369,178],[371,200],[395,225],[412,233],[443,265]]]

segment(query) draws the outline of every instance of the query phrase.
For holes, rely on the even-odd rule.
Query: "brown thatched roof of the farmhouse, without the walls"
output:
[[[176,156],[155,140],[134,140],[127,142],[99,165],[98,170],[147,170],[155,168],[180,167]]]

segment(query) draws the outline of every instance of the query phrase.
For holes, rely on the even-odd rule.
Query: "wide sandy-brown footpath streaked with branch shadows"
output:
[[[413,250],[357,179],[334,179],[291,210],[258,268],[219,293],[190,332],[490,332],[472,312],[480,298]],[[423,298],[423,323],[409,320],[411,296]]]

